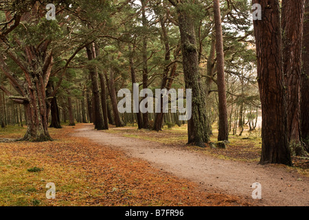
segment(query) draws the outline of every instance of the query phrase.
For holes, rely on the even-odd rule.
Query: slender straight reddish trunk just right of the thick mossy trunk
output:
[[[225,91],[225,55],[223,52],[220,1],[214,0],[214,21],[216,27],[217,83],[219,100],[219,133],[218,141],[229,139],[227,122],[227,94]]]

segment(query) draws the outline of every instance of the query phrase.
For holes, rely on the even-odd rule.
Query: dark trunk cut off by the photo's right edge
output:
[[[309,152],[309,0],[306,0],[301,74],[301,137]]]

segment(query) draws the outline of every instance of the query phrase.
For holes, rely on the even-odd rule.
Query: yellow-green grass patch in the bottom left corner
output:
[[[56,198],[63,197],[65,192],[74,192],[76,189],[86,189],[88,183],[80,182],[81,175],[74,170],[65,169],[61,165],[45,168],[27,168],[36,162],[36,157],[5,157],[0,162],[0,206],[49,206],[49,199],[45,197],[48,188],[47,182],[55,182]],[[30,171],[32,170],[32,171]],[[37,172],[41,170],[40,172]],[[59,200],[58,200],[59,201]],[[61,206],[70,206],[69,201],[59,201]]]

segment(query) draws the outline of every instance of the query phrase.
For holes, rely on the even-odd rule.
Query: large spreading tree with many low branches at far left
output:
[[[23,140],[52,140],[47,124],[50,103],[69,63],[93,40],[87,33],[73,35],[71,28],[78,22],[66,17],[66,9],[74,9],[70,1],[55,2],[57,20],[50,21],[45,18],[47,2],[26,3],[10,1],[10,7],[0,8],[5,13],[0,34],[0,69],[15,92],[3,85],[0,89],[11,100],[25,107],[27,131]],[[22,6],[23,10],[17,6]],[[78,5],[75,7],[78,11]],[[54,90],[49,91],[47,86],[52,76],[58,76],[60,80]]]

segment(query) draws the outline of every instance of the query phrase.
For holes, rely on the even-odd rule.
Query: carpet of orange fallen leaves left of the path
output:
[[[12,167],[15,165],[8,167],[1,164],[1,175],[10,173],[12,185],[20,189],[32,184],[36,190],[29,192],[25,198],[30,201],[38,197],[41,206],[250,205],[240,197],[201,192],[197,184],[153,168],[141,159],[127,157],[111,146],[72,137],[73,130],[69,127],[53,130],[54,142],[0,143],[3,162],[23,164],[17,171],[24,175],[23,178],[29,179],[21,184],[14,183]],[[29,174],[21,170],[27,166],[43,167],[44,170]],[[47,181],[56,185],[56,199],[45,198]],[[7,201],[1,205],[14,206],[14,199],[11,201],[10,196],[14,197],[10,192],[1,196],[0,192],[0,198]]]

